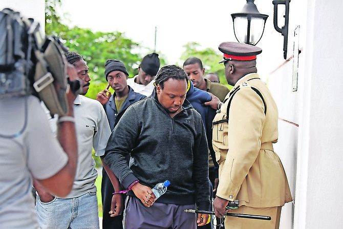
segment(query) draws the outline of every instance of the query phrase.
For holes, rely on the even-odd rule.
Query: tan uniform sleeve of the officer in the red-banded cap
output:
[[[221,170],[225,181],[219,182],[217,196],[227,200],[237,197],[243,180],[258,157],[264,120],[261,97],[250,88],[237,92],[229,110],[229,150]]]

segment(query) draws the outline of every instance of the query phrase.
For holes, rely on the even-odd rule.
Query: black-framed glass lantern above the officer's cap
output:
[[[249,45],[258,44],[268,18],[268,15],[259,12],[254,1],[247,0],[242,12],[231,14],[234,36],[240,43]]]

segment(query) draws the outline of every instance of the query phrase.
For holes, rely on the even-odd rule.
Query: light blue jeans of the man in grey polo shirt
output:
[[[47,203],[41,202],[37,195],[36,211],[41,229],[99,229],[96,192],[70,199],[55,197]]]

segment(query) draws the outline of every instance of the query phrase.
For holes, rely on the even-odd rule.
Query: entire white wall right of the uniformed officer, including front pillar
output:
[[[257,1],[255,4],[258,6]],[[280,228],[342,227],[342,8],[340,0],[290,2],[287,58],[293,54],[297,26],[302,49],[296,92],[292,92],[293,59],[283,59],[283,36],[269,27],[258,44],[263,49],[258,71],[267,75],[279,109],[275,151],[285,166],[294,198],[294,205],[283,207]],[[272,11],[267,14],[272,17]]]

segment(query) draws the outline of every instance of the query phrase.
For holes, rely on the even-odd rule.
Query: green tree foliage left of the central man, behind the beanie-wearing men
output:
[[[123,61],[129,77],[133,77],[138,73],[137,68],[143,56],[152,52],[121,32],[93,32],[77,26],[70,28],[61,23],[62,18],[55,10],[56,6],[61,6],[61,0],[46,0],[45,32],[47,35],[60,37],[70,51],[76,51],[87,61],[92,79],[87,97],[95,98],[107,85],[104,77],[107,59]],[[161,57],[160,59],[163,66],[165,61]]]

